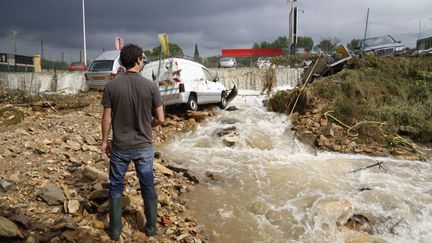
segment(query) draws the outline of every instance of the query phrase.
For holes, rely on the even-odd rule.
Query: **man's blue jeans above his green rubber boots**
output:
[[[120,150],[111,149],[109,172],[109,195],[111,198],[119,198],[123,195],[124,177],[129,163],[135,163],[135,170],[140,181],[141,195],[144,200],[156,199],[153,178],[153,147]]]

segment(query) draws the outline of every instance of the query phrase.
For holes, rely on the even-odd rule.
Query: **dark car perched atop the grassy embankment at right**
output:
[[[406,53],[407,47],[391,35],[361,40],[357,50],[360,55],[397,56]]]

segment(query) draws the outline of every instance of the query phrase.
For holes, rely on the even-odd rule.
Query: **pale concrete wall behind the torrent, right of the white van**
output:
[[[232,87],[233,82],[239,89],[257,90],[263,89],[263,77],[267,69],[258,68],[212,68],[210,71],[219,76],[219,80],[225,87]],[[301,79],[303,69],[276,68],[276,86],[294,87]]]

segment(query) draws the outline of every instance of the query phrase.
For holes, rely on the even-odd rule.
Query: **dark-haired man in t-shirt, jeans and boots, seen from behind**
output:
[[[144,67],[143,50],[126,45],[120,52],[120,62],[126,73],[109,81],[102,97],[102,153],[110,158],[109,197],[112,240],[120,239],[124,176],[130,161],[140,181],[144,199],[146,225],[144,233],[156,234],[157,195],[153,183],[152,127],[164,122],[158,86],[139,73]],[[152,112],[155,112],[155,118]],[[112,125],[112,146],[108,134]]]

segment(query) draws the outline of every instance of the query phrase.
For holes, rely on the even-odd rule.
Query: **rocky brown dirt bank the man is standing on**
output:
[[[40,102],[33,107],[17,94],[1,98],[0,241],[110,242],[108,159],[100,154],[100,94],[33,97]],[[155,150],[195,124],[193,118],[168,115],[165,125],[154,129]],[[179,197],[194,183],[187,171],[167,168],[169,162],[157,153],[155,158],[158,236],[148,238],[138,230],[145,219],[131,163],[123,198],[123,239],[200,242],[201,227]]]

